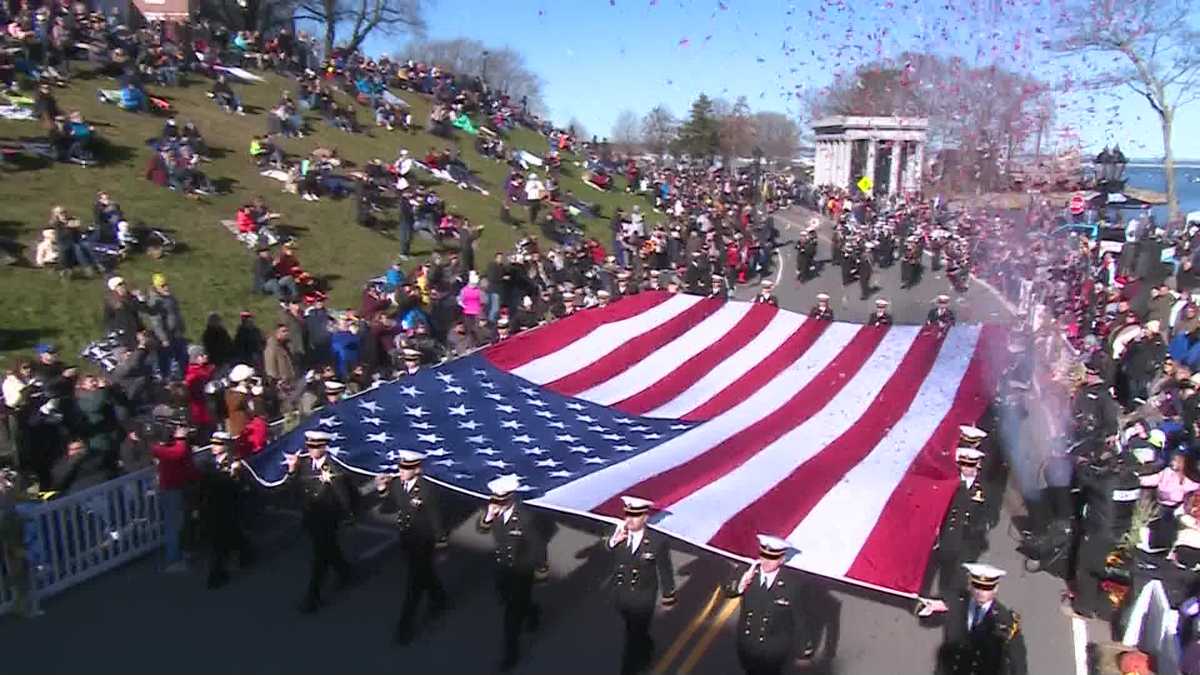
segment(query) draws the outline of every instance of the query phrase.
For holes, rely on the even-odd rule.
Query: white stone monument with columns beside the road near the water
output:
[[[812,124],[815,185],[850,187],[863,177],[875,195],[920,191],[925,168],[925,118],[835,115]]]

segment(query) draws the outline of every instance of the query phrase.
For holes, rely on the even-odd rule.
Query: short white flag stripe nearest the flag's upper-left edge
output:
[[[698,295],[680,293],[644,312],[623,321],[606,323],[562,350],[522,365],[514,370],[512,375],[535,384],[545,384],[566,377],[602,359],[634,338],[671,321],[702,299]]]

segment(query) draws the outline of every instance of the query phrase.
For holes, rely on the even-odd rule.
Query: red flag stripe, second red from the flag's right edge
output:
[[[850,429],[815,456],[772,485],[762,497],[725,521],[708,540],[716,548],[755,550],[755,534],[786,537],[847,471],[871,454],[883,436],[908,411],[922,383],[937,360],[941,331],[924,328],[892,372],[887,384]]]

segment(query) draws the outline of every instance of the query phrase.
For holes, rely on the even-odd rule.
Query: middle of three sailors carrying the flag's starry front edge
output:
[[[376,478],[376,490],[396,509],[400,542],[408,562],[408,592],[396,623],[396,641],[408,644],[413,639],[416,611],[421,596],[430,596],[430,616],[437,620],[446,607],[446,592],[433,569],[433,552],[444,548],[445,530],[438,510],[437,495],[421,476],[425,455],[413,450],[398,450],[395,476]]]

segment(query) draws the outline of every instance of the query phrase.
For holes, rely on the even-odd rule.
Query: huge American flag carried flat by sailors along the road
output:
[[[527,502],[604,519],[636,495],[656,502],[653,527],[692,544],[751,557],[755,534],[775,533],[792,567],[911,595],[998,340],[646,292],[324,408],[252,468],[282,480],[282,454],[322,429],[359,473],[415,449],[473,495],[516,473]]]

